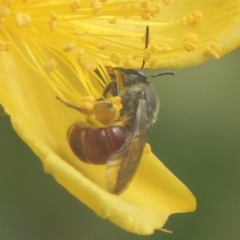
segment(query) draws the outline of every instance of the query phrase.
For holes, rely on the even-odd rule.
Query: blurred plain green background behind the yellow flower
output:
[[[196,212],[171,216],[173,234],[145,237],[102,220],[43,172],[1,114],[0,239],[240,239],[240,50],[174,71],[154,79],[161,111],[149,142],[195,194]]]

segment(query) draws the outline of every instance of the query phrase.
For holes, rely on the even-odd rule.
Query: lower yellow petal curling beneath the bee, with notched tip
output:
[[[99,216],[138,234],[162,229],[170,214],[193,211],[192,193],[153,154],[143,157],[120,196],[104,190],[104,166],[85,164],[71,152],[66,132],[80,118],[66,108],[45,79],[14,51],[0,55],[0,102],[45,171]],[[70,72],[70,69],[67,69]]]

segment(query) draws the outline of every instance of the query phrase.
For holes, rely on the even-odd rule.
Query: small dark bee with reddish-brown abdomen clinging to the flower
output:
[[[149,29],[146,29],[148,39]],[[148,40],[145,48],[147,48]],[[144,67],[144,60],[142,68]],[[151,81],[141,70],[113,68],[112,81],[103,91],[103,99],[119,96],[122,126],[92,128],[74,123],[68,130],[68,142],[75,155],[86,163],[107,164],[106,189],[121,194],[131,182],[139,166],[145,144],[159,111],[159,100]],[[161,75],[174,75],[164,72]],[[58,98],[59,99],[59,98]],[[61,100],[61,99],[59,99]],[[61,100],[62,101],[62,100]],[[81,110],[72,104],[65,105]]]

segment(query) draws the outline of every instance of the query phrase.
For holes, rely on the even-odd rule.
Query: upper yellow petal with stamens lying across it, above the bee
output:
[[[240,45],[240,0],[10,2],[0,8],[1,29],[35,46],[34,54],[43,54],[37,45],[49,47],[89,70],[99,60],[140,68],[144,56],[147,68],[186,67]],[[2,36],[0,50],[11,45],[13,39]]]

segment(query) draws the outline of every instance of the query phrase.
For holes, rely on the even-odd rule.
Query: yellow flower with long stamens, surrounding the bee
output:
[[[240,43],[240,1],[11,1],[0,7],[0,103],[45,171],[122,228],[150,234],[169,215],[193,211],[191,192],[152,154],[120,196],[104,190],[104,166],[69,148],[66,132],[110,82],[105,66],[187,67]],[[150,28],[149,46],[145,29]],[[94,70],[98,70],[99,74]]]

